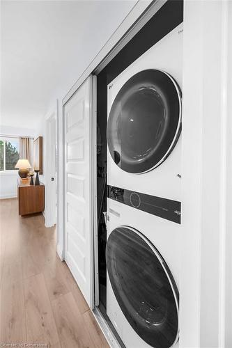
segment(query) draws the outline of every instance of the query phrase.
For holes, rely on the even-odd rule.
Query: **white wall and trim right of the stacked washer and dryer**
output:
[[[227,5],[185,1],[180,348],[232,347],[224,345]]]

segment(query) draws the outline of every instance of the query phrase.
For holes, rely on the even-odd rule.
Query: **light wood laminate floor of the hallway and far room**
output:
[[[0,200],[0,219],[0,343],[109,347],[56,254],[55,228],[42,214],[19,216],[16,199]]]

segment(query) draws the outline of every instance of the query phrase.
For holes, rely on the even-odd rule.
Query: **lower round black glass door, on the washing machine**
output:
[[[107,240],[107,270],[119,306],[148,345],[178,340],[178,289],[157,249],[133,228],[121,226]]]

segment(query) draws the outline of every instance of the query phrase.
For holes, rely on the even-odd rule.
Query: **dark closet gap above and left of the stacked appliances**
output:
[[[165,35],[170,33],[183,22],[183,0],[167,1],[157,10],[155,15],[123,46],[102,70],[95,71],[97,75],[97,206],[98,206],[98,264],[95,272],[97,289],[95,289],[95,303],[101,315],[107,322],[111,333],[124,347],[107,316],[107,264],[105,258],[107,245],[107,86],[123,70],[153,47]],[[150,35],[153,33],[153,35]],[[94,73],[94,72],[93,72]],[[111,86],[109,86],[111,88]],[[110,149],[109,149],[110,150]]]

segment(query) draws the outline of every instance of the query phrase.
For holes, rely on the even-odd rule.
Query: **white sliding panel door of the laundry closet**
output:
[[[65,261],[90,307],[93,306],[92,81],[65,104]]]

